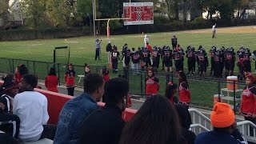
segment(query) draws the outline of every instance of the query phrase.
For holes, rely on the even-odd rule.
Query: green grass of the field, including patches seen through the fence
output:
[[[186,46],[198,46],[202,45],[206,51],[210,50],[211,46],[233,46],[235,50],[238,50],[240,46],[249,47],[250,50],[256,50],[256,27],[254,26],[242,26],[242,27],[230,27],[220,28],[217,30],[217,38],[211,38],[211,29],[206,30],[186,30],[169,33],[154,33],[148,34],[150,37],[151,46],[164,46],[170,45],[170,38],[172,35],[178,37],[178,43],[186,49]],[[111,36],[110,40],[112,44],[118,46],[118,50],[122,50],[122,46],[127,43],[130,48],[143,46],[142,34],[130,34],[130,35],[116,35]],[[95,46],[93,37],[80,37],[80,38],[67,38],[65,39],[43,39],[43,40],[31,40],[31,41],[17,41],[17,42],[0,42],[0,58],[18,58],[42,62],[53,62],[53,51],[56,46],[70,46],[70,62],[75,65],[82,66],[84,63],[89,63],[91,66],[105,66],[106,60],[106,36],[99,37],[102,39],[102,60],[95,61]],[[58,62],[63,62],[66,52],[60,52]],[[2,65],[9,65],[7,62],[1,62]],[[25,63],[26,64],[26,63]],[[18,63],[14,64],[15,66]],[[33,63],[28,63],[30,67],[33,67]],[[43,78],[47,74],[46,64],[37,63],[35,66],[35,74],[38,74],[39,78]],[[186,60],[185,60],[186,67]],[[254,69],[254,64],[252,65]],[[122,63],[119,63],[118,68],[122,70]],[[1,67],[0,69],[7,69]],[[64,68],[62,72],[64,72]],[[237,67],[235,67],[237,70]],[[5,70],[1,70],[5,71]],[[77,74],[83,74],[82,67],[76,67]],[[111,77],[116,75],[111,74]],[[61,78],[63,79],[63,78]],[[142,78],[143,79],[143,78]],[[164,76],[159,77],[161,83],[160,93],[164,94],[165,80]],[[78,79],[77,79],[78,81]],[[144,80],[143,80],[144,81]],[[177,82],[177,78],[174,78]],[[203,106],[212,106],[212,96],[218,94],[218,82],[206,82],[190,79],[190,90],[192,94],[192,102]],[[222,82],[221,87],[226,87],[226,83]],[[143,85],[144,86],[144,85]],[[239,88],[242,88],[240,86]],[[140,93],[140,78],[139,76],[133,76],[130,74],[130,89],[131,93]]]

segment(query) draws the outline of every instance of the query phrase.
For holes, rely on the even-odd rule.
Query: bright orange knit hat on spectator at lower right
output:
[[[226,128],[234,123],[234,112],[227,103],[218,102],[210,114],[211,124],[216,128]]]

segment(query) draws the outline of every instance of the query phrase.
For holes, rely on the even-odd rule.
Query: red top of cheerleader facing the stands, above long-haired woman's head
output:
[[[158,94],[158,90],[160,89],[159,80],[154,76],[151,78],[146,78],[146,94],[147,96]]]

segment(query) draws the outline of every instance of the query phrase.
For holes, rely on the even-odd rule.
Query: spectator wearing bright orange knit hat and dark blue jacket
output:
[[[247,143],[238,131],[234,111],[229,104],[216,103],[210,114],[210,122],[214,126],[214,130],[198,134],[194,141],[195,144]]]

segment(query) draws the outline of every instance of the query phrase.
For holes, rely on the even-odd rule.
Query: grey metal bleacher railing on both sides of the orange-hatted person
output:
[[[210,124],[210,118],[206,117],[205,114],[195,109],[189,109],[189,111],[192,119],[190,130],[194,134],[201,134],[202,132],[213,130],[213,126]],[[237,125],[238,130],[248,142],[256,143],[256,125],[253,122],[241,121]]]

